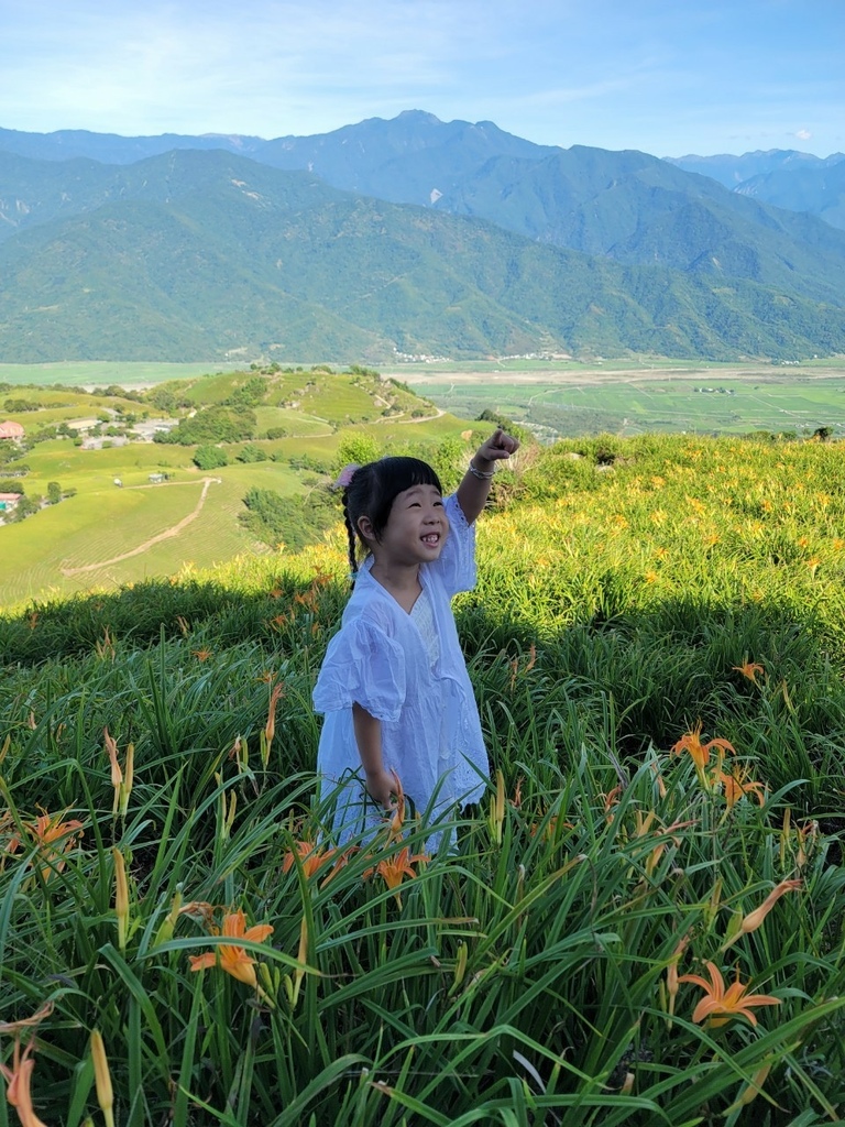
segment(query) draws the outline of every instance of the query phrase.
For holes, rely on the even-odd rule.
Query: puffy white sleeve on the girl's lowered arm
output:
[[[394,722],[406,698],[402,647],[374,622],[353,619],[329,642],[313,691],[317,712],[361,704],[377,720]]]

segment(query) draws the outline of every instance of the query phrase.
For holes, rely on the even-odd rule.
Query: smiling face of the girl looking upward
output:
[[[381,540],[372,536],[367,517],[358,527],[381,565],[411,567],[438,558],[448,535],[448,517],[436,486],[411,486],[397,494]]]

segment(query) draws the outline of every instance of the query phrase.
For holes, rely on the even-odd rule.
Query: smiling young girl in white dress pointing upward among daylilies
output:
[[[416,458],[348,467],[339,479],[355,586],[313,701],[326,713],[318,771],[331,788],[345,783],[335,820],[341,843],[383,819],[392,772],[432,816],[483,790],[487,751],[450,604],[475,584],[473,523],[496,462],[518,446],[497,431],[445,499]]]

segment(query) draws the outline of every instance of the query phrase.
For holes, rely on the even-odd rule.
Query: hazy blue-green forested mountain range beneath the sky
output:
[[[844,199],[843,154],[669,161],[416,110],[0,130],[0,361],[845,352]]]

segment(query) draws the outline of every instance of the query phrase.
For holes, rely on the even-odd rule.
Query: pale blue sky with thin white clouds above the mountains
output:
[[[0,126],[845,151],[845,0],[0,0]]]

